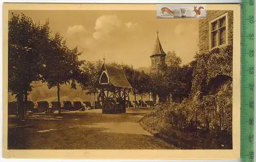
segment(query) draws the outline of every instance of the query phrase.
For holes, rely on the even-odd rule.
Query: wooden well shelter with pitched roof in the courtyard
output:
[[[129,105],[128,90],[133,87],[121,67],[103,63],[96,86],[100,89],[98,102],[102,113],[126,112],[126,107]]]

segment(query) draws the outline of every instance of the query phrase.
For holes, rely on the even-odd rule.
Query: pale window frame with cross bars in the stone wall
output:
[[[223,17],[225,17],[225,19],[226,19],[226,25],[225,25],[225,28],[226,28],[226,40],[225,40],[225,43],[224,43],[224,44],[219,45],[219,41],[220,41],[220,33],[219,33],[219,30],[221,29],[221,28],[219,27],[219,20],[220,20],[221,18],[223,18]],[[218,27],[217,27],[217,31],[218,31],[218,32],[217,32],[217,37],[218,37],[217,43],[218,43],[218,44],[217,44],[216,47],[211,48],[211,44],[212,44],[211,25],[212,25],[212,23],[214,23],[214,22],[216,22],[216,21],[217,21],[217,25],[218,25]],[[224,14],[222,14],[221,16],[218,16],[218,17],[216,17],[215,19],[209,21],[209,51],[214,50],[214,49],[216,49],[216,48],[222,48],[222,47],[225,47],[225,46],[227,46],[227,45],[228,45],[228,13],[224,13]]]

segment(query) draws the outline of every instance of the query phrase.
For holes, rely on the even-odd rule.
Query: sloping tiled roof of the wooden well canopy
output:
[[[127,80],[121,67],[106,65],[103,63],[102,71],[103,70],[105,70],[106,74],[108,75],[110,83],[115,87],[133,88]]]

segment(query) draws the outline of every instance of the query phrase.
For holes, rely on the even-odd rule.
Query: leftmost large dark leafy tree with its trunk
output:
[[[16,95],[22,120],[27,113],[28,91],[32,90],[31,83],[39,79],[46,53],[41,45],[48,44],[49,34],[48,20],[40,25],[24,14],[12,13],[8,22],[8,90]]]

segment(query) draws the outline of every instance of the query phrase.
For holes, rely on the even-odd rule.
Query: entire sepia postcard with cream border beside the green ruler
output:
[[[239,158],[240,5],[163,6],[4,4],[4,157]]]

